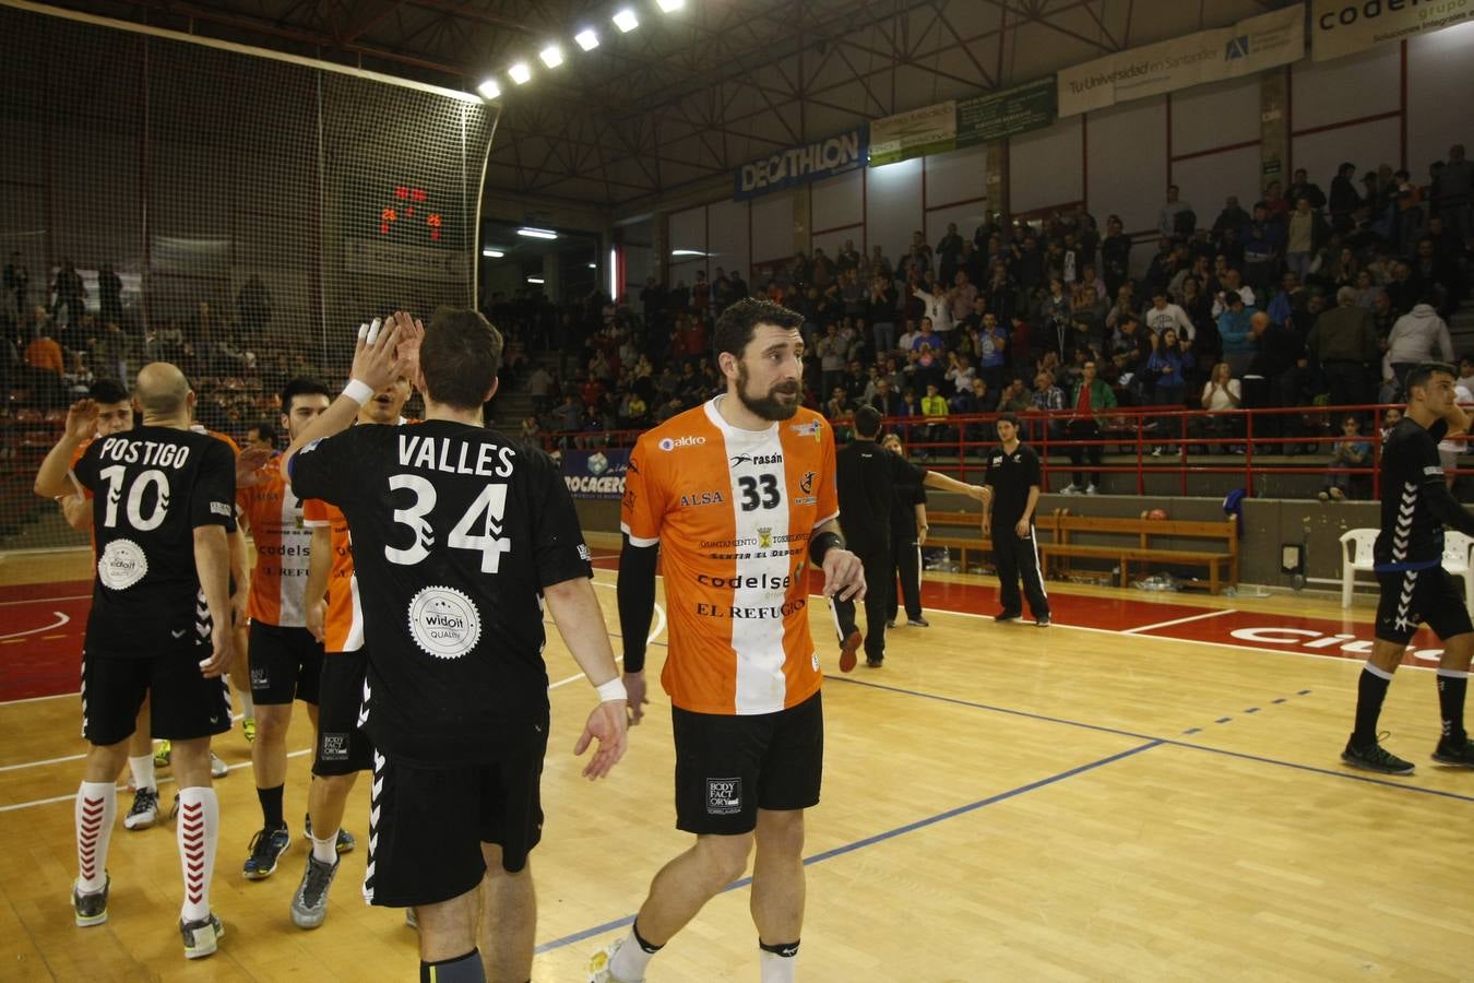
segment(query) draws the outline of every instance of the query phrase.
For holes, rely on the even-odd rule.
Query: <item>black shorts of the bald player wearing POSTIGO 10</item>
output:
[[[184,741],[230,730],[230,690],[224,676],[206,679],[199,660],[209,646],[187,646],[144,659],[83,650],[83,737],[106,747],[124,741],[137,725],[143,699],[153,696],[153,737]]]

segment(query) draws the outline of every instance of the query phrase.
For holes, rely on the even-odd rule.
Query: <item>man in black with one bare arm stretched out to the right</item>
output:
[[[965,485],[939,472],[917,467],[876,444],[879,436],[880,413],[874,407],[861,407],[855,411],[855,439],[836,454],[839,514],[845,523],[845,539],[865,564],[867,584],[886,584],[895,578],[890,560],[890,510],[898,486],[924,483],[979,501],[988,494],[982,485]],[[879,669],[886,659],[889,594],[884,590],[865,594],[865,665],[871,669]],[[840,638],[849,638],[855,626],[855,603],[836,600],[834,616]]]

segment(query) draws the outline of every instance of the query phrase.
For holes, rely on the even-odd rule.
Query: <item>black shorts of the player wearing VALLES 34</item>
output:
[[[486,874],[482,843],[516,874],[542,839],[544,722],[492,765],[420,768],[374,755],[364,900],[385,908],[460,898]],[[371,816],[377,815],[377,821]]]

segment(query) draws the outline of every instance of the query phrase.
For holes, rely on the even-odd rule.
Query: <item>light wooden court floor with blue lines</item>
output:
[[[0,564],[0,576],[13,569]],[[612,588],[613,575],[600,572],[598,584]],[[601,597],[618,631],[613,591]],[[1173,618],[1157,600],[1142,595],[1142,625]],[[1232,606],[1341,616],[1304,597],[1241,595]],[[927,616],[929,629],[893,632],[884,669],[834,672],[825,685],[802,979],[1474,977],[1474,774],[1427,759],[1437,738],[1431,672],[1400,672],[1384,713],[1390,747],[1418,774],[1380,780],[1338,762],[1355,660]],[[811,618],[815,638],[827,638],[821,604]],[[654,665],[662,651],[653,648]],[[570,747],[593,694],[556,632],[547,657],[557,687],[547,825],[534,855],[535,979],[582,980],[588,954],[622,934],[685,837],[674,830],[663,694],[615,777],[590,784]],[[259,812],[239,730],[217,746],[233,766],[217,784],[221,951],[199,964],[181,956],[172,825],[128,833],[119,822],[111,920],[75,928],[75,699],[0,704],[0,979],[414,977],[414,933],[358,895],[363,849],[345,858],[315,931],[287,918],[305,862],[295,821],[277,874],[242,878]],[[299,713],[293,818],[305,811],[308,743]],[[119,803],[121,815],[128,796]],[[349,805],[360,839],[366,811],[360,783]],[[677,936],[649,979],[756,980],[756,956],[738,887]]]

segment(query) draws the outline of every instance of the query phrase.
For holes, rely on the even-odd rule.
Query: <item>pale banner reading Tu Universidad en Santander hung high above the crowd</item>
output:
[[[1474,0],[1471,0],[1474,1]],[[1304,4],[1061,69],[1060,115],[1253,75],[1304,55]]]

